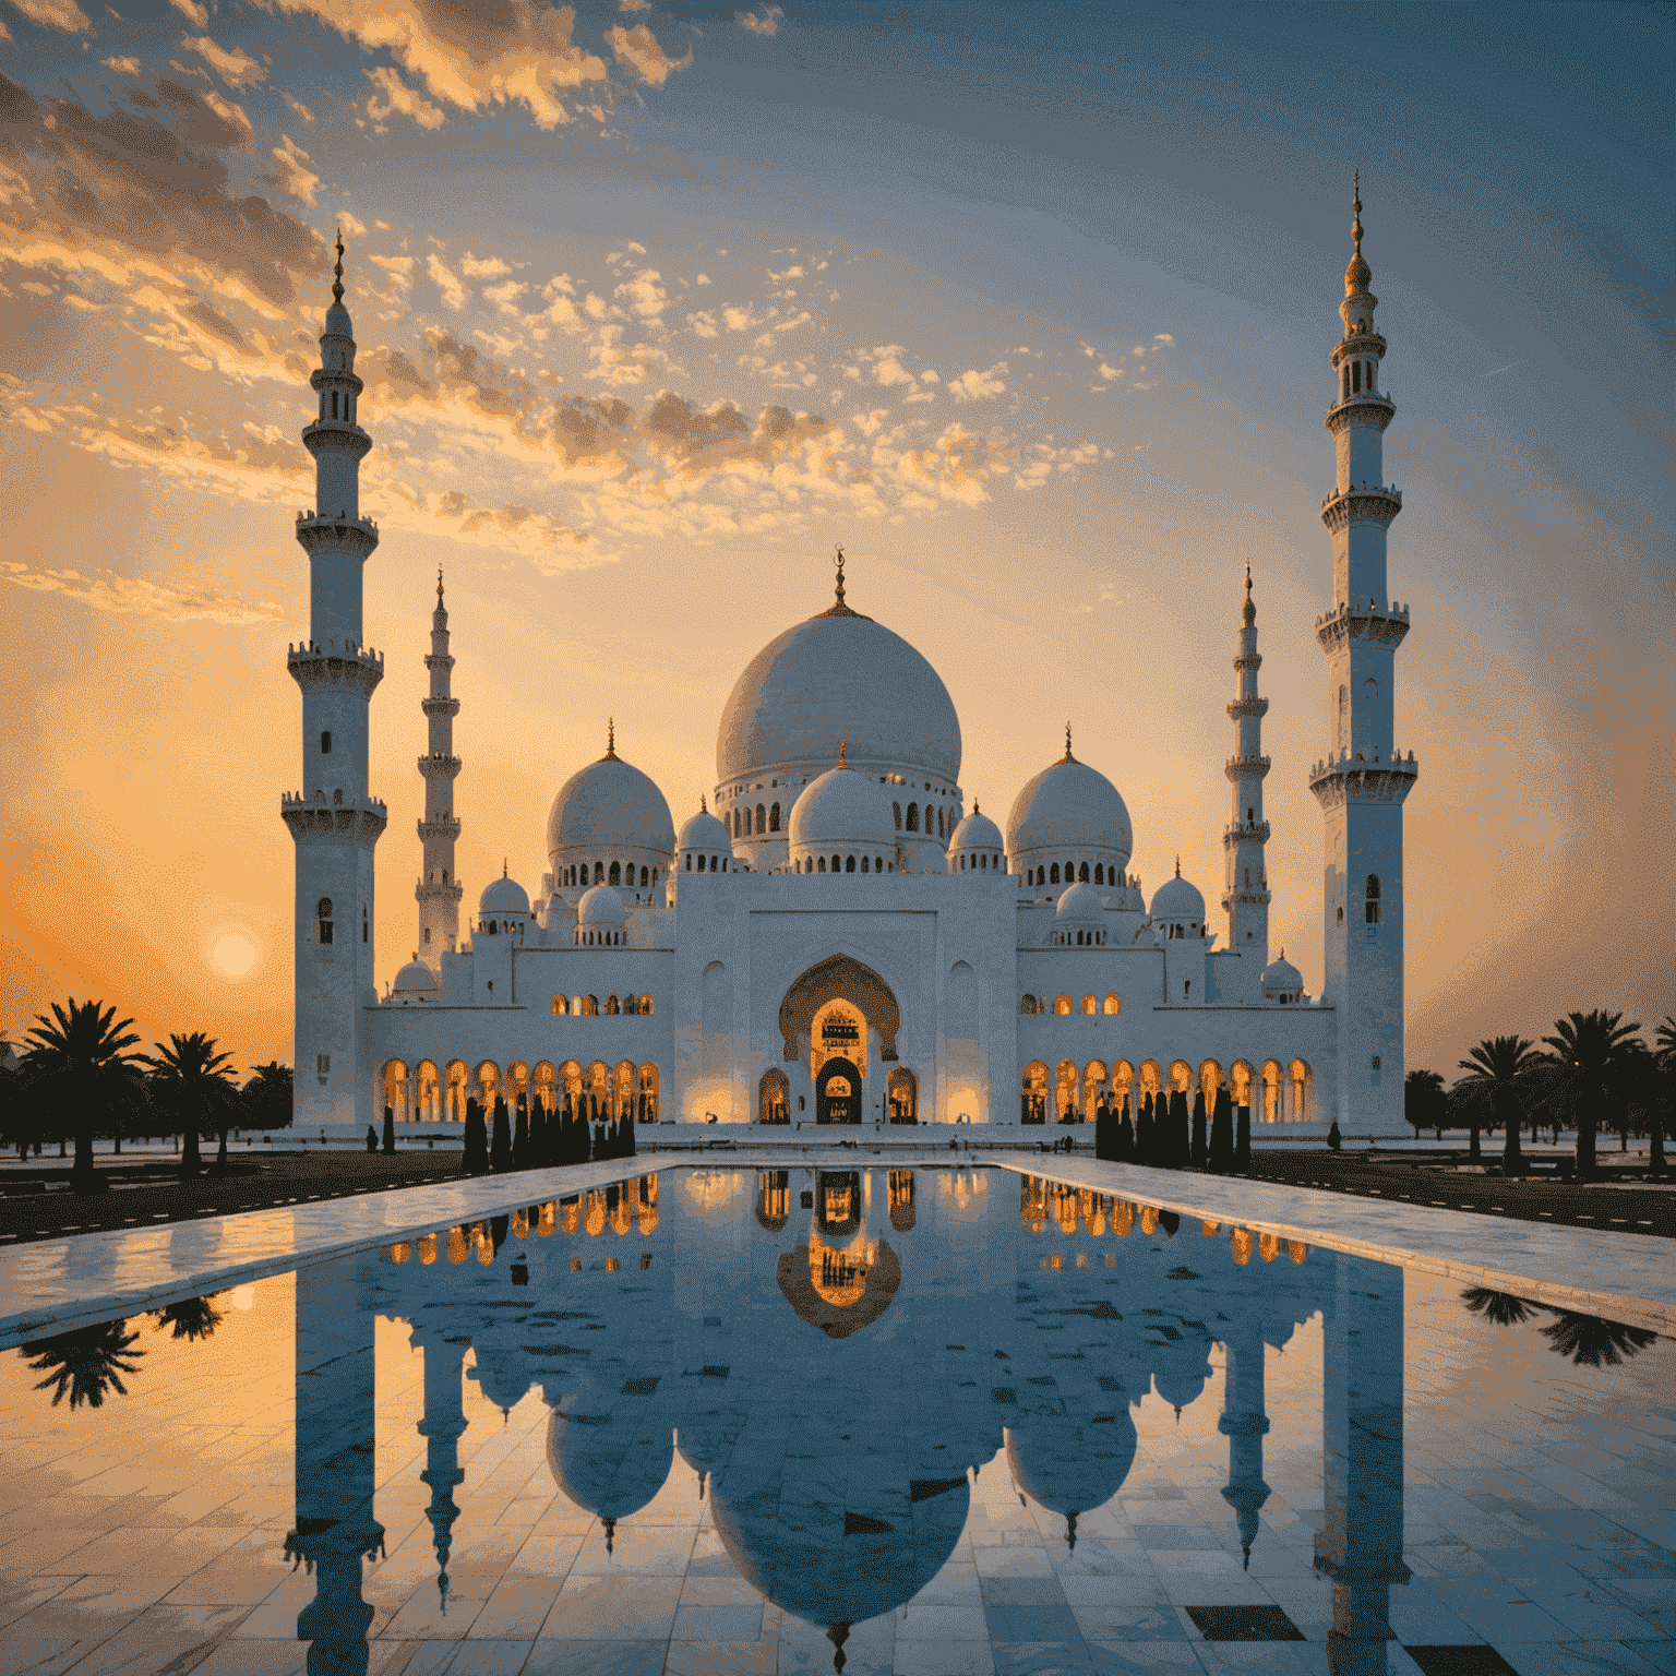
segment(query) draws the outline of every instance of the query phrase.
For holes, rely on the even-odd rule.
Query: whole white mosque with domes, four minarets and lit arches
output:
[[[303,789],[282,813],[297,845],[297,1123],[459,1121],[469,1096],[634,1113],[664,1123],[1056,1123],[1103,1098],[1230,1084],[1255,1123],[1403,1123],[1403,799],[1393,746],[1406,607],[1386,597],[1383,483],[1394,407],[1361,255],[1344,275],[1326,426],[1337,479],[1331,749],[1311,789],[1326,821],[1319,996],[1270,959],[1250,575],[1235,640],[1222,917],[1180,877],[1148,900],[1130,872],[1130,811],[1073,754],[1017,794],[1002,828],[960,789],[960,721],[937,670],[836,598],[771,640],[722,711],[711,806],[679,831],[664,793],[607,734],[553,798],[548,870],[531,893],[489,880],[459,923],[454,659],[441,577],[431,618],[417,949],[380,996],[367,789],[380,654],[362,639],[355,340],[334,303],[303,431],[317,508],[298,516],[310,639],[290,649],[303,694]],[[335,508],[334,508],[335,503]],[[342,1128],[337,1130],[344,1133]]]

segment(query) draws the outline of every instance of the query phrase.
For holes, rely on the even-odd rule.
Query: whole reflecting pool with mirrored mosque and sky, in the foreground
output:
[[[0,1358],[0,1669],[1676,1673],[1673,1368],[1006,1170],[662,1170]]]

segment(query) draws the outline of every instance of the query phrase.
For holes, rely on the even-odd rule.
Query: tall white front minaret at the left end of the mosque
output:
[[[297,515],[308,555],[308,639],[287,655],[303,694],[303,784],[280,815],[297,845],[295,1121],[367,1123],[372,1078],[362,1061],[362,1007],[372,999],[372,851],[387,820],[367,791],[367,721],[384,657],[360,640],[360,568],[379,530],[360,516],[360,459],[372,439],[355,422],[360,379],[344,307],[344,240],[332,307],[310,384],[320,416],[303,431],[315,459],[315,510]]]

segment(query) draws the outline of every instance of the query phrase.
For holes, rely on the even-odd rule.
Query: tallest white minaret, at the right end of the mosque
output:
[[[1381,394],[1384,339],[1373,328],[1379,298],[1361,253],[1361,176],[1356,255],[1344,270],[1332,350],[1337,382],[1327,431],[1337,444],[1337,483],[1321,508],[1332,535],[1332,610],[1316,622],[1327,654],[1332,754],[1311,773],[1326,816],[1326,984],[1337,1009],[1336,1074],[1317,1083],[1322,1118],[1354,1118],[1374,1133],[1403,1120],[1403,799],[1415,754],[1393,746],[1396,649],[1408,607],[1386,597],[1384,538],[1403,496],[1383,481],[1384,427],[1396,412]]]

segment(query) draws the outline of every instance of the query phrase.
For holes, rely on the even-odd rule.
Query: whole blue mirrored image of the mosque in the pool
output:
[[[303,1270],[290,1547],[318,1579],[298,1619],[310,1671],[367,1668],[375,1316],[412,1322],[424,1353],[444,1601],[454,1492],[471,1488],[469,1348],[501,1408],[540,1389],[553,1482],[608,1542],[679,1455],[739,1572],[828,1629],[841,1668],[848,1626],[913,1599],[954,1554],[970,1473],[1004,1450],[1074,1545],[1135,1465],[1133,1410],[1151,1393],[1197,1401],[1215,1342],[1222,1493],[1249,1557],[1269,1497],[1265,1349],[1317,1312],[1334,1668],[1384,1671],[1389,1585],[1408,1575],[1401,1270],[1210,1225],[1183,1254],[1173,1217],[1029,1178],[1014,1227],[999,1203],[1012,1180],[654,1175]]]

